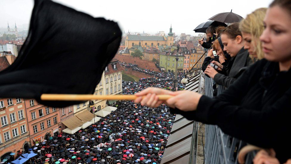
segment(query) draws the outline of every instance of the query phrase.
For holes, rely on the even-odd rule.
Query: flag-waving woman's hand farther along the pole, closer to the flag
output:
[[[138,96],[134,102],[135,103],[140,103],[141,105],[146,105],[150,108],[156,108],[159,105],[161,105],[162,103],[165,103],[165,100],[158,100],[157,95],[160,94],[168,94],[168,95],[174,95],[174,92],[169,91],[169,90],[165,90],[165,89],[161,89],[161,88],[154,88],[154,87],[149,87],[146,88],[134,95]],[[142,96],[145,96],[145,98],[143,98]]]

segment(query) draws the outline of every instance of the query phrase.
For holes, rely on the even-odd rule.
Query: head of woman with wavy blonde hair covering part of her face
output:
[[[264,31],[264,17],[267,8],[259,8],[248,14],[246,19],[239,23],[239,30],[244,38],[244,49],[249,51],[252,59],[263,59],[264,53],[260,36]]]

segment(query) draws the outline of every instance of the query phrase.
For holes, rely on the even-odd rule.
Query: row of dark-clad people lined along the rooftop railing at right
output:
[[[218,125],[224,133],[263,148],[255,164],[289,163],[290,27],[290,0],[274,0],[269,8],[257,9],[239,23],[209,27],[208,41],[199,41],[212,47],[202,69],[214,80],[213,88],[218,84],[226,90],[210,98],[186,90],[147,88],[135,94],[134,102],[149,107],[166,103],[171,112]],[[157,94],[174,97],[158,101]]]

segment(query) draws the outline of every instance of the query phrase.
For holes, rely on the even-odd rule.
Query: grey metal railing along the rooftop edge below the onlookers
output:
[[[213,97],[213,79],[205,76],[205,95]],[[217,95],[224,87],[218,85]],[[205,164],[236,164],[240,148],[246,142],[224,134],[217,125],[205,125]],[[247,154],[246,164],[252,163],[255,152]]]

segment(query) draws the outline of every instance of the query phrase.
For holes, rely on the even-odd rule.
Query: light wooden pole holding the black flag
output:
[[[159,100],[167,100],[172,95],[157,95]],[[143,96],[145,97],[145,96]],[[134,100],[135,95],[92,95],[92,94],[42,94],[41,100],[51,101],[83,101],[83,100]]]

